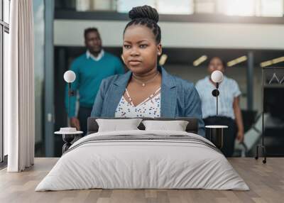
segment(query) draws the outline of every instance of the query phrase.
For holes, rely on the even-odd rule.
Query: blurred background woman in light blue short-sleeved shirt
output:
[[[212,57],[209,60],[209,76],[200,79],[196,84],[197,92],[202,101],[202,114],[205,125],[225,125],[229,126],[224,131],[224,146],[222,153],[226,157],[231,157],[234,153],[235,139],[244,140],[244,124],[241,117],[241,108],[239,106],[239,96],[241,91],[239,85],[234,79],[224,75],[223,81],[219,84],[219,103],[218,115],[216,115],[216,97],[212,96],[212,90],[216,84],[212,81],[210,75],[214,70],[225,72],[226,65],[219,57]],[[208,133],[207,133],[208,134]]]

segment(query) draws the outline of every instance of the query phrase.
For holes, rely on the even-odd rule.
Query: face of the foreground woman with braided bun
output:
[[[122,55],[131,72],[150,72],[157,66],[157,55],[161,52],[162,47],[155,42],[155,35],[150,28],[140,25],[126,28]]]

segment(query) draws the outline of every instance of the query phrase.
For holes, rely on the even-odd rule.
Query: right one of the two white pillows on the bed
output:
[[[146,131],[166,130],[166,131],[185,131],[188,121],[142,121]]]

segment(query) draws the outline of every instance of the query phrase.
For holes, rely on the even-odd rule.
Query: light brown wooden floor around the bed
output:
[[[250,191],[217,190],[72,190],[34,192],[57,158],[35,158],[24,172],[0,171],[0,202],[284,202],[284,158],[229,158]]]

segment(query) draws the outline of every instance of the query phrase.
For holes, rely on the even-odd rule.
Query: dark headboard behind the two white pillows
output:
[[[106,118],[106,117],[89,117],[88,124],[87,124],[87,135],[91,133],[97,133],[99,129],[99,125],[97,124],[96,119],[136,119],[136,118]],[[198,121],[195,118],[185,118],[185,117],[178,117],[178,118],[138,118],[145,120],[155,120],[155,121],[188,121],[186,130],[188,133],[196,133],[198,132]],[[145,126],[141,124],[138,126],[140,130],[145,130]]]

